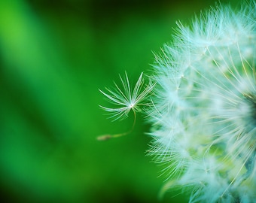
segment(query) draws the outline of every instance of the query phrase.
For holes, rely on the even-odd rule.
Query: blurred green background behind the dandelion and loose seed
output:
[[[99,88],[150,70],[175,21],[215,1],[0,1],[1,202],[181,202],[145,156],[139,117],[112,123]],[[223,1],[228,2],[228,1]],[[236,2],[236,1],[233,1]],[[178,195],[177,195],[178,194]]]

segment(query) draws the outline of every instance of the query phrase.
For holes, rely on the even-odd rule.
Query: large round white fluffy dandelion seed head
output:
[[[255,20],[218,5],[156,56],[151,153],[190,202],[256,199]]]

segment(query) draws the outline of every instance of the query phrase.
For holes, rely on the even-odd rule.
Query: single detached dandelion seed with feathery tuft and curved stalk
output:
[[[106,98],[108,98],[108,101],[115,105],[114,108],[107,108],[102,107],[105,111],[107,111],[109,114],[111,114],[110,118],[114,118],[114,120],[123,120],[126,117],[128,117],[128,114],[130,111],[133,111],[134,114],[134,122],[133,127],[136,123],[136,112],[141,111],[140,106],[146,105],[143,103],[145,101],[145,98],[151,92],[152,88],[154,87],[154,84],[149,83],[147,86],[144,85],[143,80],[143,72],[140,74],[139,79],[136,82],[136,85],[134,86],[133,90],[130,86],[129,78],[125,72],[125,77],[120,76],[120,81],[122,86],[118,86],[117,83],[114,83],[114,90],[105,88],[108,93],[103,92],[99,89],[100,92],[102,92],[103,95],[105,95]],[[130,132],[133,131],[133,128],[129,132],[124,132],[116,135],[103,135],[99,136],[98,140],[107,140],[109,138],[117,138],[123,135],[127,135]]]

